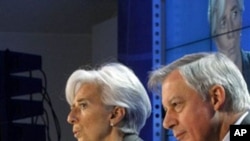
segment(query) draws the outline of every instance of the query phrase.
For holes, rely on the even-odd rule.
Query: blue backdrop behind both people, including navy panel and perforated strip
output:
[[[250,50],[250,1],[245,0],[242,48]],[[118,59],[134,69],[145,87],[148,72],[194,52],[216,51],[210,37],[208,0],[119,0]],[[145,141],[174,141],[162,129],[161,100],[149,94],[152,116],[140,136]]]

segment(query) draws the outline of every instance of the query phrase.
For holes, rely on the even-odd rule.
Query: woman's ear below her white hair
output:
[[[110,117],[110,125],[117,125],[125,116],[126,110],[123,107],[115,106]]]

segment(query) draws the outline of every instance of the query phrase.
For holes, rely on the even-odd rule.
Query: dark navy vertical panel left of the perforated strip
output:
[[[133,69],[145,87],[148,71],[152,68],[151,16],[151,1],[119,0],[118,60]],[[145,141],[151,141],[152,132],[150,117],[140,136]]]

